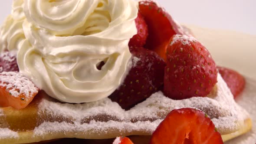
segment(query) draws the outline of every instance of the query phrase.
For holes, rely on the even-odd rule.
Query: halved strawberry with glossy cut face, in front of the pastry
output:
[[[223,144],[213,122],[195,108],[171,111],[153,132],[150,144]]]

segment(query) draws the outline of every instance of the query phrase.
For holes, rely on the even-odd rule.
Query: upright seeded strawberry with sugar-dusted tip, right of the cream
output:
[[[194,37],[175,35],[167,48],[164,94],[173,99],[207,96],[217,83],[208,50]]]

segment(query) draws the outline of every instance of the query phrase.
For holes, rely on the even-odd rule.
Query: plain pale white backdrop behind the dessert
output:
[[[256,35],[256,0],[158,0],[180,23]],[[0,0],[0,23],[12,0]]]

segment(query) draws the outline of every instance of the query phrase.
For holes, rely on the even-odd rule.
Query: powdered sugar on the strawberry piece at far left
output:
[[[33,93],[38,92],[33,82],[19,72],[1,72],[0,86],[6,87],[8,92],[14,97],[23,94],[25,98],[30,98]]]

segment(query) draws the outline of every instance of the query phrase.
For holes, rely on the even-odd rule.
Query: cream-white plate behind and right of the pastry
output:
[[[256,143],[256,36],[243,33],[188,26],[195,37],[209,49],[217,65],[226,66],[246,76],[246,88],[237,99],[253,119],[253,129],[225,144]]]

